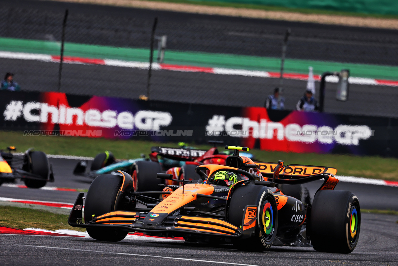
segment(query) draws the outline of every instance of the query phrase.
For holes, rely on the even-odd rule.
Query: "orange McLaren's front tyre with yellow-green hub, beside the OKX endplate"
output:
[[[236,188],[229,205],[228,222],[236,226],[242,225],[243,210],[247,205],[257,206],[256,233],[250,238],[232,239],[232,244],[242,251],[268,250],[275,240],[278,226],[275,197],[262,185],[248,184]]]

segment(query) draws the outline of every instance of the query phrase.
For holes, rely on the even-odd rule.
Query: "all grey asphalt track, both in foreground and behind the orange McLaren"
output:
[[[72,175],[78,160],[50,158],[56,173],[47,186],[87,189],[92,179]],[[22,184],[18,181],[19,184]],[[321,182],[307,185],[313,196]],[[398,210],[398,187],[341,182],[336,189],[354,192],[362,209]],[[1,197],[74,203],[78,192],[0,187]],[[100,242],[92,238],[0,234],[0,265],[398,265],[396,215],[362,212],[361,233],[351,254],[313,248],[272,247],[267,252],[238,252],[232,245],[148,240]],[[167,257],[167,258],[165,258]],[[180,260],[180,258],[184,260]],[[187,259],[187,260],[185,260]],[[203,262],[198,260],[205,260]],[[228,263],[228,264],[227,264]]]

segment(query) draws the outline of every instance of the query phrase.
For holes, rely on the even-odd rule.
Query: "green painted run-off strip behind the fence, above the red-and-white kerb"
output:
[[[64,47],[64,56],[118,59],[123,61],[148,62],[150,53],[147,48],[97,46],[78,43],[65,43]],[[55,41],[0,38],[0,51],[60,55],[60,43]],[[156,56],[157,51],[154,51],[155,59]],[[281,59],[275,57],[166,50],[164,63],[279,72]],[[396,66],[289,58],[285,60],[285,73],[308,74],[309,66],[312,66],[314,74],[318,75],[326,71],[349,69],[352,77],[398,80],[398,67]]]

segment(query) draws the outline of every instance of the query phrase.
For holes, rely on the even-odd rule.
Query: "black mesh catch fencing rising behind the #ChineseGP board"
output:
[[[398,83],[377,85],[377,79],[397,80],[395,31],[173,12],[143,16],[133,9],[131,14],[74,9],[67,17],[65,12],[4,6],[0,10],[0,73],[14,72],[25,91],[129,99],[149,96],[222,106],[263,106],[267,95],[281,87],[285,109],[294,110],[306,88],[309,66],[318,74],[345,67],[365,79],[352,80],[347,102],[336,102],[336,83],[328,83],[325,112],[398,117]],[[318,89],[316,78],[316,98]]]

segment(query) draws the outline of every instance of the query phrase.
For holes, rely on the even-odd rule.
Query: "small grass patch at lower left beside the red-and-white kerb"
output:
[[[85,228],[68,225],[68,215],[29,208],[0,206],[0,226],[25,229],[41,228],[47,230],[69,229],[86,231]]]

